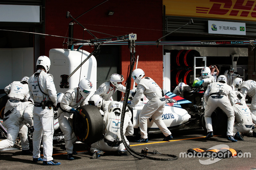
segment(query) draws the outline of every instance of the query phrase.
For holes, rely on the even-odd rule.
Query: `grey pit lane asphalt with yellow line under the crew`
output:
[[[150,152],[156,150],[160,153],[173,154],[178,156],[177,160],[171,161],[159,161],[151,159],[137,159],[133,156],[117,156],[115,153],[105,152],[98,159],[91,159],[91,154],[87,152],[87,145],[83,143],[74,144],[74,151],[78,154],[74,155],[75,160],[67,160],[65,154],[64,145],[54,145],[53,147],[53,159],[61,162],[59,166],[44,166],[41,162],[34,163],[32,161],[32,155],[21,155],[21,150],[5,150],[0,151],[0,169],[1,170],[42,170],[42,169],[60,169],[60,170],[72,170],[72,169],[129,169],[129,170],[157,170],[157,169],[243,169],[250,170],[256,169],[256,138],[244,137],[245,141],[229,142],[222,136],[214,136],[210,141],[205,141],[204,137],[206,132],[202,129],[183,130],[172,132],[174,140],[165,142],[163,140],[163,134],[149,134],[148,143],[135,143],[132,142],[133,138],[129,137],[131,141],[130,145],[133,150],[141,152],[142,149],[148,148]],[[180,157],[180,153],[186,152],[188,149],[193,148],[211,148],[219,144],[226,144],[230,148],[241,150],[243,153],[247,153],[249,158],[244,155],[242,158],[226,158],[220,159],[213,163],[214,160],[209,161],[209,158],[198,157]],[[42,147],[41,147],[41,154]],[[251,156],[249,156],[250,154]],[[185,157],[185,156],[184,156]],[[159,157],[157,158],[166,158]],[[204,160],[203,165],[199,160]],[[216,159],[215,159],[216,160]],[[208,161],[208,162],[206,162]],[[212,163],[212,164],[209,164]]]

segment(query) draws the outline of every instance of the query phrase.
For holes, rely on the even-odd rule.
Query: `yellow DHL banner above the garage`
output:
[[[256,0],[163,0],[165,15],[256,21]]]

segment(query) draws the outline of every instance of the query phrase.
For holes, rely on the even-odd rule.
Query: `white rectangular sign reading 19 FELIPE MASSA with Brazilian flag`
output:
[[[245,23],[208,20],[208,33],[246,35]]]

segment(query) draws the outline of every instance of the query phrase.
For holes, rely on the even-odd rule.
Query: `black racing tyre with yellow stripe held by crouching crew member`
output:
[[[78,107],[78,114],[73,114],[72,128],[77,139],[92,144],[102,138],[104,123],[100,111],[92,105]]]

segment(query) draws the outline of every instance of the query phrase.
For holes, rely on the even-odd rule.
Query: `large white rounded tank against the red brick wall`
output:
[[[70,88],[78,87],[79,80],[83,78],[90,79],[93,84],[93,91],[88,96],[88,99],[97,90],[97,61],[93,55],[68,79],[69,88],[60,88],[60,75],[70,75],[89,55],[90,53],[87,51],[83,50],[82,55],[82,50],[77,51],[75,49],[54,48],[49,51],[49,58],[51,60],[49,73],[53,76],[57,93],[65,93]]]

